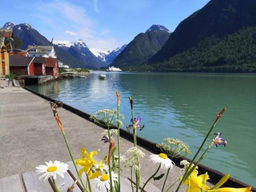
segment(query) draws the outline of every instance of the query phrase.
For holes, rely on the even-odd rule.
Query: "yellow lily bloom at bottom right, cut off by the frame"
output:
[[[250,192],[251,191],[251,187],[219,188],[228,180],[228,178],[229,178],[229,174],[225,175],[215,186],[210,188],[206,185],[206,181],[209,179],[207,172],[203,175],[197,176],[197,172],[194,170],[193,173],[191,173],[188,179],[184,182],[184,184],[189,186],[186,192]]]

